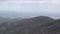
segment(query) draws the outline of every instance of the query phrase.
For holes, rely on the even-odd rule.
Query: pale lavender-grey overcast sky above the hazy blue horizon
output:
[[[0,0],[0,11],[3,10],[59,17],[60,0]]]

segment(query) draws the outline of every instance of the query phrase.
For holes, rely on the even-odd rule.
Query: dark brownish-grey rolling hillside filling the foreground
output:
[[[60,19],[38,16],[0,24],[0,34],[60,34]]]

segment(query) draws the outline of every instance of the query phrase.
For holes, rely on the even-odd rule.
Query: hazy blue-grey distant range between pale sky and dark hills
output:
[[[0,11],[0,16],[2,17],[9,17],[9,18],[18,18],[18,17],[22,17],[22,18],[31,18],[31,17],[36,17],[36,16],[49,16],[52,18],[60,18],[59,13],[58,14],[53,14],[53,13],[45,13],[45,12],[39,12],[39,11],[33,11],[33,12],[29,12],[29,11]]]

